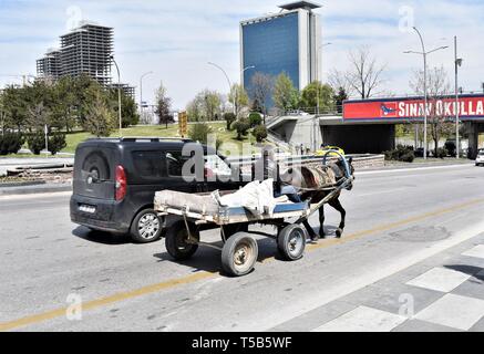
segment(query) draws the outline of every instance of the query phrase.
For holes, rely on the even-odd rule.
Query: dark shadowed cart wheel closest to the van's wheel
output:
[[[189,223],[192,237],[199,240],[200,235],[193,223]],[[166,232],[165,246],[169,256],[177,261],[190,259],[198,249],[198,244],[187,242],[188,232],[185,222],[176,222]]]

